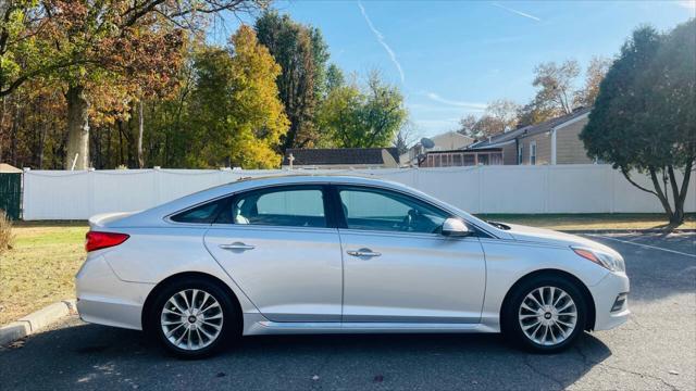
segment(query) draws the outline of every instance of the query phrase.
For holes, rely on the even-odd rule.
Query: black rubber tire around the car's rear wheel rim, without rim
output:
[[[167,302],[172,297],[178,292],[188,290],[197,290],[197,293],[202,291],[210,294],[210,297],[220,304],[222,314],[222,329],[220,330],[220,333],[214,339],[208,339],[208,341],[212,340],[209,344],[200,349],[192,350],[182,349],[175,345],[170,341],[170,339],[167,339],[162,327],[162,312],[164,310],[164,305],[171,305],[167,304]],[[241,314],[238,311],[238,306],[235,305],[234,300],[234,298],[231,298],[228,291],[222,288],[219,283],[202,277],[174,280],[156,292],[156,297],[152,299],[152,304],[149,305],[148,308],[149,313],[147,314],[146,332],[149,336],[154,337],[167,353],[176,357],[202,358],[210,356],[219,352],[222,348],[229,345],[231,342],[236,342],[241,337]],[[200,301],[200,299],[198,299],[198,301]],[[208,328],[208,330],[211,331],[210,328]]]

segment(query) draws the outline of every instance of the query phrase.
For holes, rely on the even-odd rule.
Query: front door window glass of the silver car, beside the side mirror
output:
[[[448,214],[408,195],[378,189],[339,189],[349,229],[437,232]]]

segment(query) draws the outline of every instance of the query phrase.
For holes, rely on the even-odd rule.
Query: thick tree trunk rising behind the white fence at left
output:
[[[65,93],[67,100],[67,153],[65,169],[89,168],[89,101],[83,86],[72,86]],[[77,155],[77,160],[75,156]]]

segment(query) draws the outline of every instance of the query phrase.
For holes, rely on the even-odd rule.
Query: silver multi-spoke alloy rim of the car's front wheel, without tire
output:
[[[568,292],[557,287],[531,291],[519,310],[524,335],[540,345],[557,345],[567,340],[577,325],[577,307]]]

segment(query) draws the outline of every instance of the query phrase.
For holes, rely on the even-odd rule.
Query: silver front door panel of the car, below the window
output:
[[[485,263],[476,238],[340,230],[344,321],[478,323]],[[352,256],[370,250],[378,256]]]

